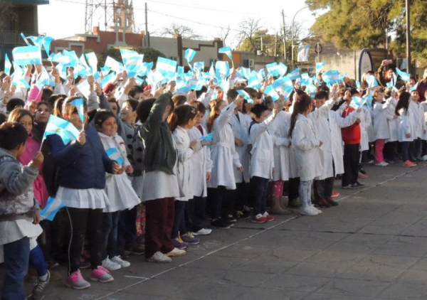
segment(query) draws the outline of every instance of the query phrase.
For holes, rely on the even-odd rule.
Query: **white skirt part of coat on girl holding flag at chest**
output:
[[[107,193],[108,200],[110,200],[110,205],[104,208],[104,213],[130,209],[141,203],[126,173],[107,175],[105,193]]]

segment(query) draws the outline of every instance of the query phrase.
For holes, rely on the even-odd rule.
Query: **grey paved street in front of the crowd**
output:
[[[367,167],[367,187],[336,181],[339,206],[322,215],[243,220],[172,264],[132,256],[114,282],[75,291],[64,279],[46,299],[427,299],[426,166]]]

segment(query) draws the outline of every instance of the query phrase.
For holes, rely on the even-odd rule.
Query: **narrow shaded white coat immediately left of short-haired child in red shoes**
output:
[[[238,157],[240,159],[240,162],[243,166],[243,172],[240,172],[237,170],[237,168],[234,168],[234,178],[236,179],[236,183],[242,183],[243,179],[246,183],[249,182],[249,151],[248,151],[248,144],[251,144],[249,141],[248,136],[248,129],[251,124],[251,121],[248,121],[248,119],[245,117],[244,114],[241,112],[237,112],[238,119],[236,117],[236,114],[233,113],[233,115],[230,118],[230,124],[231,129],[233,129],[233,135],[235,138],[241,139],[243,141],[243,146],[237,146],[236,152],[238,153]]]

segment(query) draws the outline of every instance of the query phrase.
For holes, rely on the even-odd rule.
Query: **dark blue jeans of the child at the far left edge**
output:
[[[23,237],[21,240],[3,245],[3,249],[6,274],[4,276],[1,300],[25,300],[23,278],[28,270],[30,239]]]

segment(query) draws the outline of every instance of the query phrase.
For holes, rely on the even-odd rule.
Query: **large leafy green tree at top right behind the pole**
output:
[[[386,31],[395,32],[391,43],[395,54],[406,44],[405,0],[306,0],[312,11],[327,9],[312,31],[337,48],[374,48],[384,45]],[[427,6],[425,0],[411,0],[413,58],[427,60]]]

